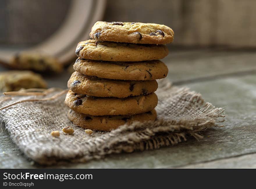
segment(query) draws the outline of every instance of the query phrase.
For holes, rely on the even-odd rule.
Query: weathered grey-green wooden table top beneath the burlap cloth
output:
[[[217,49],[170,49],[163,59],[168,79],[175,85],[189,87],[216,107],[225,107],[225,127],[207,130],[200,141],[189,138],[159,150],[44,167],[22,154],[2,124],[0,168],[256,168],[255,60],[253,51]],[[47,80],[50,87],[66,88],[68,78],[63,73]]]

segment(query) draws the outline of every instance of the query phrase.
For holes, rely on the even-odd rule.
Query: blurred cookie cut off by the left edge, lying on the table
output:
[[[47,84],[43,78],[32,71],[5,71],[0,73],[0,91],[18,91],[21,88],[43,88]]]

